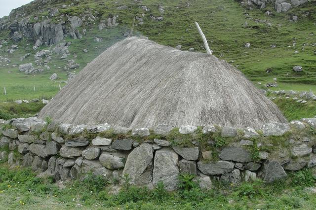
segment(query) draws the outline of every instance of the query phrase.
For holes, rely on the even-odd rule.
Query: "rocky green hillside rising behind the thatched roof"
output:
[[[0,101],[53,97],[129,35],[134,17],[134,35],[204,51],[197,21],[213,54],[260,87],[276,78],[273,89],[316,91],[315,11],[316,1],[304,0],[35,0],[0,19]]]

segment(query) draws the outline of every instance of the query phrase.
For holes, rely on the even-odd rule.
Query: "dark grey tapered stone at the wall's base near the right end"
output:
[[[276,160],[266,161],[266,163],[264,164],[263,180],[265,182],[268,182],[268,183],[274,182],[278,179],[283,179],[286,176],[287,175],[284,169],[282,168],[280,163],[277,162]]]

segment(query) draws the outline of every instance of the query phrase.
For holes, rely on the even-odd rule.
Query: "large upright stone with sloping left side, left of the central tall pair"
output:
[[[129,153],[123,175],[128,174],[131,184],[146,185],[153,180],[154,150],[148,143],[142,143]]]

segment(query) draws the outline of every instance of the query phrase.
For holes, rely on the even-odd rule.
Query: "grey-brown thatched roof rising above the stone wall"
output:
[[[40,112],[72,124],[259,128],[286,122],[276,105],[225,61],[144,38],[119,41]]]

